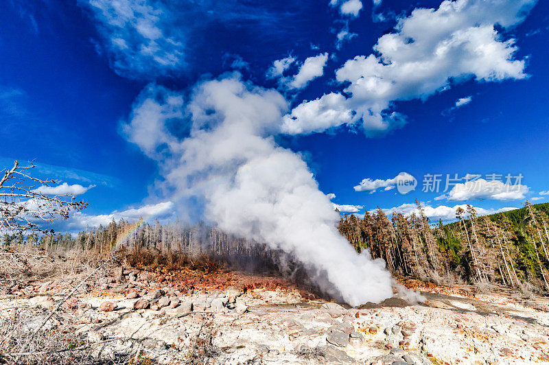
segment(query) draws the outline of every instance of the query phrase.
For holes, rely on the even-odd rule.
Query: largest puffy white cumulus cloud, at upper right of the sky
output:
[[[374,54],[347,60],[336,71],[336,80],[346,85],[344,92],[349,97],[340,98],[328,128],[362,123],[366,135],[376,137],[406,123],[393,110],[394,102],[426,99],[452,83],[471,79],[499,82],[526,78],[524,60],[515,59],[515,40],[504,39],[495,25],[511,28],[521,23],[535,3],[443,1],[438,9],[417,8],[401,17],[395,32],[377,40]],[[322,98],[312,102],[319,100]],[[307,108],[308,103],[297,108]],[[325,113],[325,108],[318,109]],[[338,119],[340,110],[352,110],[353,119]],[[295,130],[321,130],[315,117],[307,117],[307,121],[294,121],[302,125]]]

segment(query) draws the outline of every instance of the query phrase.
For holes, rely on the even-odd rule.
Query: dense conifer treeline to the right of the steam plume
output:
[[[456,211],[457,222],[436,226],[416,204],[419,213],[391,219],[379,208],[362,219],[342,215],[339,231],[395,274],[549,292],[549,204],[482,217],[467,206]]]

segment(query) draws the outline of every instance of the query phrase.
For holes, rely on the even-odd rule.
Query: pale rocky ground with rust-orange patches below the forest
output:
[[[45,279],[5,288],[4,325],[24,310],[32,329],[66,297],[70,287]],[[75,292],[47,328],[72,333],[103,363],[549,363],[549,301],[405,284],[426,300],[350,308],[270,276],[113,269]]]

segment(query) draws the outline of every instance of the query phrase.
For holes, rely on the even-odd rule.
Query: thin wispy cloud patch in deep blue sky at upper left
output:
[[[114,69],[129,78],[169,73],[184,62],[185,37],[161,1],[80,0],[104,38]]]

